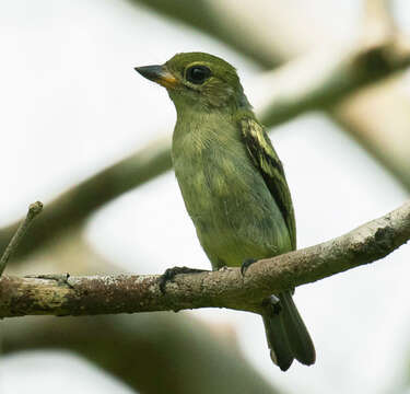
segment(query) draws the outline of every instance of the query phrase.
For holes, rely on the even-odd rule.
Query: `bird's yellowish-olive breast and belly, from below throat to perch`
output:
[[[173,141],[185,206],[214,267],[239,265],[245,258],[289,247],[284,220],[239,131],[224,131],[223,136],[187,132]]]

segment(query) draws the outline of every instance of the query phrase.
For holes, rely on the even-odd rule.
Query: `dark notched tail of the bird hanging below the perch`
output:
[[[279,298],[278,298],[279,297]],[[262,314],[270,358],[282,370],[288,370],[294,359],[311,366],[316,352],[291,291],[278,297],[271,296],[263,301]]]

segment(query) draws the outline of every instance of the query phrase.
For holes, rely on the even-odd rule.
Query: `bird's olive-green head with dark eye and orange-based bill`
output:
[[[177,111],[249,106],[235,68],[213,55],[177,54],[162,66],[136,67],[136,71],[166,88]]]

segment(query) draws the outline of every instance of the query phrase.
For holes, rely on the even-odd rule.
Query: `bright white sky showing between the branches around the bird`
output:
[[[360,3],[315,0],[311,15],[326,19],[336,39],[347,40],[356,30]],[[398,2],[396,14],[409,32],[410,3]],[[30,202],[47,204],[172,132],[175,111],[166,91],[133,67],[164,62],[177,51],[209,51],[235,65],[250,102],[261,93],[251,89],[260,70],[250,59],[121,0],[0,1],[0,178],[7,190],[0,194],[0,225],[20,218]],[[292,190],[300,247],[340,235],[408,198],[321,114],[279,127],[272,141]],[[172,172],[101,209],[86,237],[129,271],[210,267]],[[273,368],[259,316],[213,309],[184,313],[232,325],[246,357],[289,393],[386,393],[405,378],[408,362],[409,258],[410,246],[403,246],[384,262],[297,289],[295,301],[317,349],[311,368]],[[67,381],[69,386],[61,385]],[[0,356],[2,394],[55,393],[56,384],[61,394],[130,393],[68,352]]]

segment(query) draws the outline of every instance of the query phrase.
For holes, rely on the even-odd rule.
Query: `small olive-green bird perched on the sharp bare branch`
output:
[[[256,259],[295,250],[283,166],[235,68],[216,56],[186,53],[136,70],[165,86],[175,104],[175,174],[212,268],[242,266],[244,273]],[[271,359],[282,371],[294,359],[309,366],[316,358],[292,292],[261,302]]]

